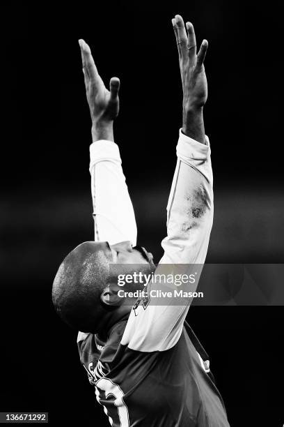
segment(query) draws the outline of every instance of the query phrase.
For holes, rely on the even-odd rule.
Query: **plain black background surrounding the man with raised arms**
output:
[[[116,122],[139,244],[161,256],[181,126],[171,17],[209,40],[205,128],[215,218],[207,262],[283,262],[281,14],[276,3],[11,3],[2,10],[1,411],[48,411],[52,425],[107,426],[56,317],[63,257],[93,239],[90,117],[77,40],[104,82],[121,80]],[[1,250],[2,252],[2,250]],[[282,426],[281,307],[192,307],[232,426]]]

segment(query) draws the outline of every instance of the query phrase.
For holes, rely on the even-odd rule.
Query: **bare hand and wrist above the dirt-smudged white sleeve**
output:
[[[180,15],[172,20],[175,39],[178,45],[180,75],[183,91],[183,127],[186,135],[205,142],[202,110],[207,100],[207,79],[203,65],[208,42],[203,40],[196,54],[196,36],[194,26],[184,21]],[[197,135],[197,137],[196,137]]]

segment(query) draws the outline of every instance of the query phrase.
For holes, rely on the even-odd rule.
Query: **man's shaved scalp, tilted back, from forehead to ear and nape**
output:
[[[52,301],[58,315],[70,327],[97,332],[108,311],[100,296],[109,281],[111,259],[107,242],[88,241],[63,260],[54,278]]]

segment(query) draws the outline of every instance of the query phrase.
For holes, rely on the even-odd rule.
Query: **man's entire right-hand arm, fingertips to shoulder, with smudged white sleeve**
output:
[[[198,277],[205,262],[213,220],[212,167],[209,140],[205,137],[203,106],[207,99],[207,81],[203,61],[207,42],[203,40],[196,55],[194,27],[187,23],[187,31],[180,15],[173,20],[178,43],[182,77],[182,129],[177,146],[178,161],[167,206],[167,236],[161,245],[164,256],[155,271],[179,276],[198,272],[196,280],[179,287],[166,280],[152,281],[149,299],[132,310],[122,343],[133,350],[151,352],[167,350],[177,343]],[[165,265],[167,264],[167,265]],[[199,264],[199,265],[197,265]],[[188,292],[177,297],[175,290]],[[158,292],[170,297],[157,298]]]

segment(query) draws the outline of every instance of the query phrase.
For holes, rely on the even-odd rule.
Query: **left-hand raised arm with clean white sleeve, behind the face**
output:
[[[119,112],[120,81],[112,77],[110,90],[97,72],[90,47],[79,40],[92,119],[93,144],[90,145],[90,175],[93,197],[95,241],[116,244],[131,241],[136,245],[136,221],[121,166],[118,145],[113,140],[113,120]]]

